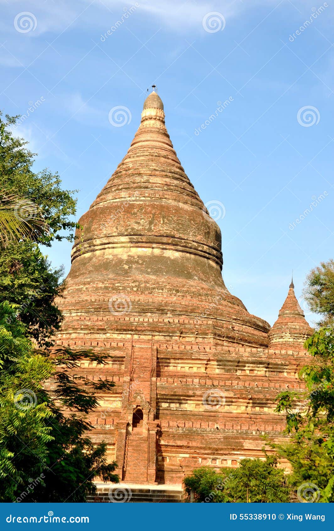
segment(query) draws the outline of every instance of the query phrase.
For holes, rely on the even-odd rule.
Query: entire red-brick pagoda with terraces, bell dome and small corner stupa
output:
[[[203,465],[263,457],[284,436],[275,397],[299,389],[312,333],[293,283],[276,323],[222,280],[221,233],[179,161],[153,91],[122,162],[79,224],[57,345],[108,355],[82,363],[115,382],[89,419],[128,483],[182,483]]]

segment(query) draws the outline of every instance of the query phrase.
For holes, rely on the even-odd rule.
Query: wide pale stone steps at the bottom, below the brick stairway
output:
[[[112,503],[113,500],[130,503],[183,503],[184,496],[180,485],[135,485],[113,483],[110,486],[97,485],[96,496],[88,496],[90,503]],[[110,496],[109,496],[110,491]]]

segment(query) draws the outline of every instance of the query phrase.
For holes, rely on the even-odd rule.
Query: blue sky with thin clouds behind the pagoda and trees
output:
[[[273,324],[292,269],[299,297],[306,273],[333,256],[331,3],[0,5],[0,106],[22,115],[36,107],[15,130],[38,152],[36,170],[58,171],[79,190],[79,219],[129,148],[156,83],[187,175],[204,203],[218,205],[225,283]],[[125,123],[115,127],[108,116],[119,106]],[[66,272],[70,251],[47,250]]]

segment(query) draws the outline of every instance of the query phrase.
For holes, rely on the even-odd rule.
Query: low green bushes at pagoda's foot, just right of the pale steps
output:
[[[289,487],[277,463],[277,456],[266,456],[266,460],[242,459],[238,468],[219,473],[201,467],[184,479],[185,491],[189,499],[193,491],[196,502],[288,502]]]

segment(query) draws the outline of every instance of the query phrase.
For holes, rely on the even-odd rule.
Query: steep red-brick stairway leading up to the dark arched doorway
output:
[[[147,434],[136,433],[127,437],[123,480],[126,483],[147,482],[148,440]]]

